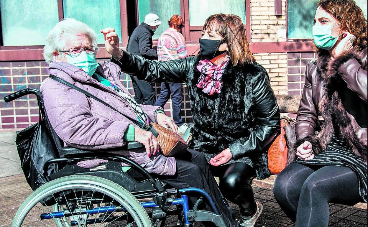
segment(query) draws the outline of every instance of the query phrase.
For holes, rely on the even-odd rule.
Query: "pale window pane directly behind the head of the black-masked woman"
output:
[[[245,0],[189,0],[189,23],[192,26],[202,26],[210,15],[218,13],[238,15],[245,24]]]

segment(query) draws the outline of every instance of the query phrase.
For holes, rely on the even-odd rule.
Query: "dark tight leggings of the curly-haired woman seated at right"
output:
[[[273,194],[295,226],[328,226],[328,203],[360,202],[357,174],[344,166],[291,163],[276,178]]]

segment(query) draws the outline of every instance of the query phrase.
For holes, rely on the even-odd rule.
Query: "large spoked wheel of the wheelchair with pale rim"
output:
[[[22,203],[12,227],[152,227],[138,200],[104,178],[72,175],[42,185]]]

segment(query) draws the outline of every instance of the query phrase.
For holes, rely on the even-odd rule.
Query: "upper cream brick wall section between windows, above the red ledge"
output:
[[[286,41],[286,0],[275,16],[275,0],[251,1],[251,42]]]

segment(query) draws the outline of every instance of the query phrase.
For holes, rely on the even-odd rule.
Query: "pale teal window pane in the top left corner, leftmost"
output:
[[[4,46],[45,45],[59,21],[57,0],[1,0],[0,9]]]

